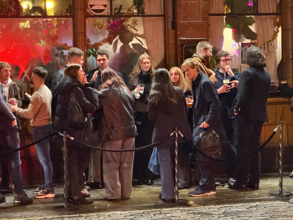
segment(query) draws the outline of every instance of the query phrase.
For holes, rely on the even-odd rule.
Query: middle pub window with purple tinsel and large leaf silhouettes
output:
[[[87,70],[97,68],[96,50],[109,52],[109,66],[126,80],[140,54],[155,68],[164,66],[163,0],[87,0]]]

